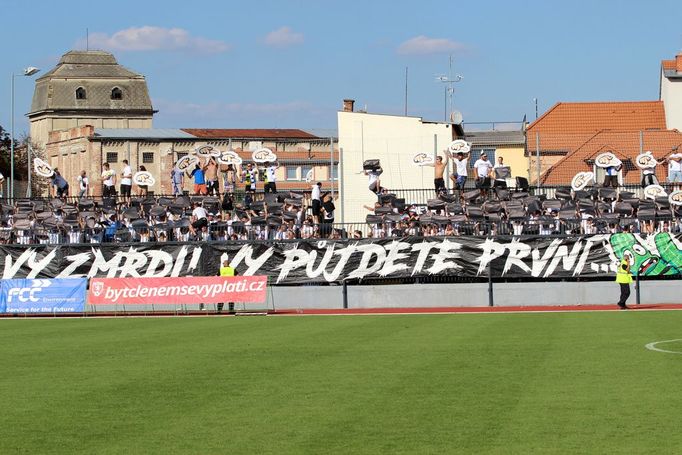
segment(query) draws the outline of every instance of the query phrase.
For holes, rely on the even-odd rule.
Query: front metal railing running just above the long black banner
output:
[[[649,233],[682,232],[682,220],[590,218],[560,219],[544,217],[490,221],[485,218],[443,220],[439,222],[321,223],[302,225],[244,224],[217,222],[194,227],[189,220],[173,223],[121,224],[119,222],[68,227],[0,228],[3,244],[79,244],[79,243],[146,243],[146,242],[239,242],[286,240],[344,240],[363,238],[456,237],[456,236],[562,236],[613,234],[618,232]]]

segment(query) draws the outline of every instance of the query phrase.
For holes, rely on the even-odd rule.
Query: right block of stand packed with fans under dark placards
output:
[[[556,188],[552,198],[494,188],[486,197],[479,190],[444,194],[426,207],[404,207],[384,194],[367,223],[373,237],[682,232],[682,208],[667,197],[640,199],[615,188]]]

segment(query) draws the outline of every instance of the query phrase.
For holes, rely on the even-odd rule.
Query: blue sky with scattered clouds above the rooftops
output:
[[[57,6],[58,5],[58,6]],[[436,74],[464,76],[465,122],[535,118],[558,101],[658,99],[660,61],[682,49],[679,1],[2,0],[0,124],[10,75],[85,47],[147,77],[154,126],[335,128],[343,98],[442,120]],[[33,82],[16,79],[16,131]]]

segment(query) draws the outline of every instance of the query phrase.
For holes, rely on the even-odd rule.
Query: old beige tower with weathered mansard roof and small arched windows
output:
[[[28,113],[33,144],[43,149],[51,131],[151,128],[147,82],[104,51],[69,51],[36,80]]]

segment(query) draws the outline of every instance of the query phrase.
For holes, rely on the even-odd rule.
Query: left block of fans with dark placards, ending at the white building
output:
[[[234,195],[19,199],[2,204],[0,242],[56,244],[341,238],[334,204],[319,194],[313,215],[302,193],[260,200]]]

